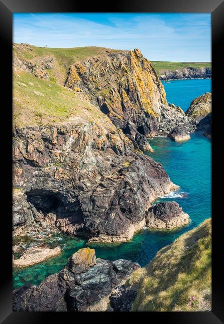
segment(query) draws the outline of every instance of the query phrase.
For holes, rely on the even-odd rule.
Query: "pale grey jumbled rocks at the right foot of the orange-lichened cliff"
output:
[[[191,118],[185,115],[180,106],[174,104],[160,106],[161,120],[158,136],[168,136],[176,127],[184,127],[188,132],[194,132],[196,125],[192,123]]]

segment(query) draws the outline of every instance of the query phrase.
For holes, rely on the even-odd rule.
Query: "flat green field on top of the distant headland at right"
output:
[[[183,67],[211,67],[211,62],[162,62],[151,61],[156,73],[160,74],[164,70],[176,70]]]

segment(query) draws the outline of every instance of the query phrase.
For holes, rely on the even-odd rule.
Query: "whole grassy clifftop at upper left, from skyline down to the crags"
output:
[[[64,87],[71,63],[106,56],[111,50],[101,47],[45,48],[13,44],[13,126],[57,125],[72,118],[111,125],[109,118],[94,106],[80,89]],[[24,62],[41,67],[44,58],[53,58],[53,68],[45,69],[49,77],[28,73]],[[20,64],[20,65],[19,65]],[[40,71],[41,72],[41,71]]]

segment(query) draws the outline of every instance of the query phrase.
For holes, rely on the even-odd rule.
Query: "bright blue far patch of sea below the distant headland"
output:
[[[205,92],[211,92],[211,79],[171,80],[162,82],[169,104],[179,105],[186,111],[192,100]]]

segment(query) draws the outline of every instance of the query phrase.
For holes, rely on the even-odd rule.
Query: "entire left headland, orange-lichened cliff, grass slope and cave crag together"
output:
[[[44,221],[90,240],[128,240],[152,201],[176,188],[138,152],[158,129],[164,89],[138,50],[72,64],[50,54],[15,46],[14,235]]]

